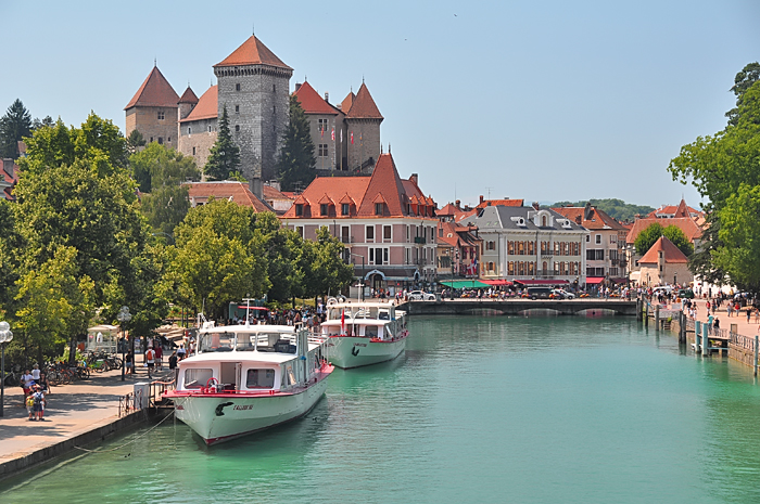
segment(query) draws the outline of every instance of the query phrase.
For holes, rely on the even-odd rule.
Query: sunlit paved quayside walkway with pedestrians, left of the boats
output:
[[[164,370],[166,373],[166,365]],[[154,373],[153,378],[163,373]],[[148,382],[148,370],[138,367],[125,382],[121,370],[90,376],[88,380],[52,387],[46,397],[43,422],[28,421],[21,387],[5,387],[4,417],[0,418],[0,464],[113,422],[118,416],[119,397],[131,392],[135,383]]]

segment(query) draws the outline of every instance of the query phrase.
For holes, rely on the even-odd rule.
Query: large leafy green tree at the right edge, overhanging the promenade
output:
[[[750,64],[737,74],[732,90],[737,93],[730,121],[714,135],[699,137],[681,147],[668,170],[673,180],[692,181],[709,198],[706,206],[711,229],[702,237],[704,251],[692,267],[714,270],[740,289],[758,289],[760,258],[755,254],[760,228],[752,228],[749,214],[760,185],[760,65]],[[709,262],[708,262],[709,255]],[[696,271],[696,270],[695,270]]]

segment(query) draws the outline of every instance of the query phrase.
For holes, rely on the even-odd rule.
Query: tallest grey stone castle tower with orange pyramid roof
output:
[[[240,147],[243,175],[274,179],[281,137],[288,126],[293,69],[251,36],[214,65],[214,75],[218,117],[226,106],[232,137]]]

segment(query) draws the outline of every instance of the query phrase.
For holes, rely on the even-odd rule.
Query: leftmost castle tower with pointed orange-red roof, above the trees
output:
[[[159,142],[177,148],[179,96],[157,66],[148,75],[129,101],[126,111],[126,135],[138,130],[145,142]]]

